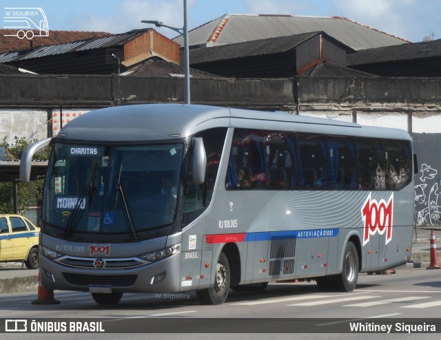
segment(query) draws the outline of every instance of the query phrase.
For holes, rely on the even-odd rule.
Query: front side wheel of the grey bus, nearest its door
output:
[[[216,264],[216,275],[214,277],[214,285],[210,288],[197,290],[201,304],[220,305],[227,299],[229,291],[230,271],[227,255],[220,253]]]

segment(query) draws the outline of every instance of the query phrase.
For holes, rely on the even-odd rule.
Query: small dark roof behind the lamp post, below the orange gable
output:
[[[184,76],[184,68],[175,63],[170,63],[168,61],[160,60],[147,60],[141,65],[136,65],[130,70],[122,73],[121,76],[159,76],[159,77],[170,77],[170,76]],[[215,74],[209,72],[203,72],[190,68],[190,76],[196,78],[216,78]]]

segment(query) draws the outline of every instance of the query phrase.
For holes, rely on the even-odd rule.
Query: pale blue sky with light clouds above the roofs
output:
[[[123,33],[158,20],[183,27],[183,0],[0,0],[5,8],[42,8],[50,30]],[[441,39],[441,0],[187,0],[188,29],[223,14],[346,17],[411,42]],[[176,32],[158,28],[170,38]]]

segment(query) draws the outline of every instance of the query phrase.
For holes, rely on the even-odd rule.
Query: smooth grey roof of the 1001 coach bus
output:
[[[97,109],[65,125],[58,137],[85,142],[141,142],[183,138],[213,127],[410,139],[407,131],[400,129],[367,127],[284,112],[184,104],[125,105]]]

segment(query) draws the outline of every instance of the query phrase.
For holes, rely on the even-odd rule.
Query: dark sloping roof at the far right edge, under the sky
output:
[[[354,66],[384,63],[387,61],[407,61],[437,56],[441,56],[441,39],[358,51],[357,53],[347,56],[347,65]]]

